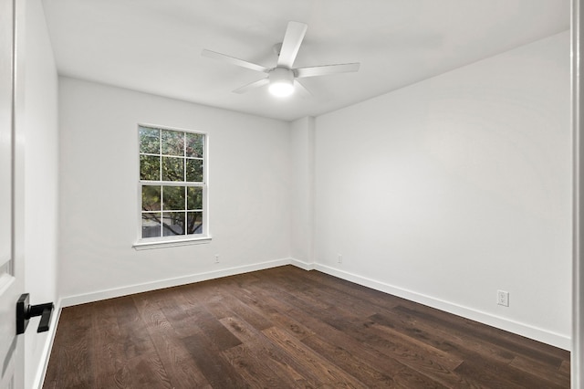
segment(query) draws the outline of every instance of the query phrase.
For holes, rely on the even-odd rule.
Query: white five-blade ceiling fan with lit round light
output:
[[[274,50],[278,56],[275,68],[266,68],[243,59],[226,56],[207,49],[203,49],[201,55],[208,58],[221,59],[242,68],[250,68],[255,71],[267,73],[265,79],[259,79],[251,84],[235,89],[235,93],[245,93],[251,89],[263,87],[264,85],[269,84],[268,89],[270,93],[279,97],[289,96],[295,89],[298,89],[304,95],[310,95],[308,89],[306,89],[297,79],[327,76],[329,74],[359,70],[359,63],[292,68],[294,60],[297,57],[298,49],[307,33],[307,28],[308,25],[304,23],[288,22],[284,40],[282,43],[274,46]]]

